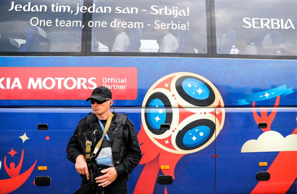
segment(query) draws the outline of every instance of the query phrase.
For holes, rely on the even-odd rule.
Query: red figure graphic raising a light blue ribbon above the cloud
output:
[[[280,99],[280,96],[277,96],[276,97],[276,100],[275,100],[275,103],[274,103],[274,106],[273,107],[278,107],[279,105],[279,99]],[[255,107],[255,101],[253,102],[253,105],[252,107]],[[267,116],[267,109],[266,108],[261,108],[260,110],[260,115],[259,116],[256,112],[256,109],[253,108],[253,115],[254,115],[254,118],[255,118],[255,121],[257,124],[259,123],[267,123],[267,128],[266,129],[262,129],[263,132],[266,132],[266,131],[271,131],[271,123],[276,115],[276,113],[278,112],[278,109],[277,108],[273,108],[272,109],[272,112],[269,114],[269,116]]]

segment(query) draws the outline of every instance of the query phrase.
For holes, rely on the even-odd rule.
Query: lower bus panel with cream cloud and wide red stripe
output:
[[[296,193],[296,108],[225,111],[228,119],[216,141],[216,192]],[[259,129],[259,122],[268,127]],[[256,180],[256,173],[266,171],[268,181]]]

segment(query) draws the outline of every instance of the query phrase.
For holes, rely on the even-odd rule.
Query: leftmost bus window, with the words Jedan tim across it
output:
[[[83,24],[82,13],[75,15],[77,3],[83,5],[82,0],[1,1],[0,51],[80,52]]]

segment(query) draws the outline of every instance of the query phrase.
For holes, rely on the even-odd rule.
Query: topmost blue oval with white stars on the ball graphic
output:
[[[182,82],[183,90],[187,95],[198,100],[205,100],[209,97],[207,86],[197,79],[187,78]]]

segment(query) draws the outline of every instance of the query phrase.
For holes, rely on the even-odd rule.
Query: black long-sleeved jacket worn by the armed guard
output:
[[[119,120],[120,115],[122,113],[113,112],[114,116],[111,120],[110,128],[107,131],[107,135],[110,138],[111,143],[113,143],[114,139],[118,139],[121,141],[120,150],[118,153],[113,152],[113,161],[115,165],[115,169],[119,177],[125,177],[129,175],[131,171],[139,164],[140,159],[142,157],[140,146],[138,143],[137,135],[135,132],[134,124],[131,120],[127,119],[125,124],[114,133],[114,129],[116,129],[119,124],[117,121]],[[90,118],[92,119],[90,121]],[[87,122],[88,120],[88,122]],[[105,126],[105,123],[103,122]],[[97,131],[94,134],[94,131]],[[75,160],[78,155],[83,154],[83,151],[80,149],[78,142],[75,140],[75,135],[86,133],[89,141],[92,141],[91,153],[94,151],[94,145],[97,145],[97,142],[100,140],[103,131],[97,119],[97,116],[94,113],[90,113],[87,117],[84,117],[80,120],[77,125],[73,136],[70,138],[70,141],[67,145],[67,158],[75,163]],[[102,148],[102,146],[101,146]],[[99,153],[99,152],[98,152]],[[96,157],[93,157],[94,159]],[[94,161],[92,158],[92,161]]]

